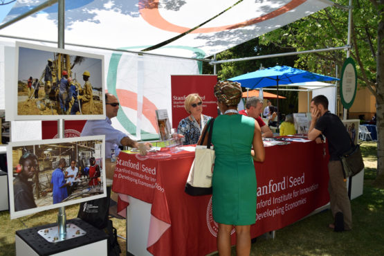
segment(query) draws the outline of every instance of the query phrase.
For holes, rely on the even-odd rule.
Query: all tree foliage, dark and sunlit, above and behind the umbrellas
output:
[[[349,6],[349,0],[334,0]],[[348,10],[332,6],[299,21],[273,30],[257,39],[217,55],[217,60],[235,59],[271,53],[309,51],[351,46],[350,57],[356,62],[358,84],[367,86],[376,98],[378,130],[378,180],[384,181],[384,0],[353,0],[351,38],[348,42]],[[278,59],[230,62],[218,66],[220,80],[260,67],[284,64],[324,75],[340,77],[347,51],[324,51]],[[291,62],[291,63],[290,63]],[[337,67],[337,68],[336,68]],[[356,99],[358,100],[358,99]],[[280,101],[282,102],[282,101]]]

